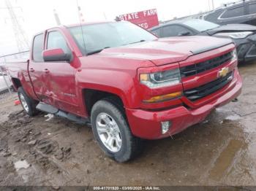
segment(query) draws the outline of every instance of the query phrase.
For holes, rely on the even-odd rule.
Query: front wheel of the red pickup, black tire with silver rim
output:
[[[124,163],[128,160],[133,159],[134,157],[139,155],[140,152],[142,152],[143,141],[132,135],[132,132],[129,129],[129,125],[126,120],[124,109],[121,109],[122,107],[120,106],[120,104],[116,103],[117,102],[113,101],[113,99],[111,98],[105,98],[103,100],[97,101],[97,103],[94,104],[91,109],[91,126],[94,137],[97,140],[99,147],[105,152],[105,154],[113,160],[116,160],[116,162],[118,163]],[[111,145],[113,145],[113,147],[111,147],[112,149],[109,146],[106,146],[106,142],[108,142],[108,139],[106,139],[106,141],[102,140],[102,137],[103,139],[105,139],[105,136],[111,136],[111,128],[108,128],[107,126],[103,127],[110,130],[110,132],[107,132],[107,135],[107,133],[100,134],[99,130],[102,130],[103,128],[99,125],[97,126],[97,124],[99,123],[101,125],[104,124],[104,121],[106,119],[110,120],[110,123],[112,123],[112,125],[114,124],[114,128],[116,128],[117,125],[119,130],[116,130],[117,138],[115,136],[115,132],[112,132],[114,135],[113,137],[116,138],[115,141],[111,141]],[[106,125],[108,124],[106,123]],[[114,149],[115,145],[116,149]]]

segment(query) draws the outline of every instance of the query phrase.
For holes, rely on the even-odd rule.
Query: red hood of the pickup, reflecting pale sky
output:
[[[148,60],[160,66],[184,61],[189,55],[214,50],[230,43],[230,39],[210,36],[178,36],[112,47],[99,52],[97,56]]]

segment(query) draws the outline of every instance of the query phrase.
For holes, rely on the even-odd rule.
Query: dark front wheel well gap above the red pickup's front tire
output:
[[[104,98],[110,98],[111,101],[114,101],[115,104],[118,104],[118,106],[124,107],[123,101],[121,101],[121,98],[113,93],[108,93],[100,90],[92,90],[92,89],[85,89],[83,90],[83,95],[85,98],[86,103],[86,110],[91,116],[91,109],[94,104]]]

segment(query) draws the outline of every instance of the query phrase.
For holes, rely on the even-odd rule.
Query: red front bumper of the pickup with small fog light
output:
[[[236,70],[233,81],[226,85],[218,93],[219,97],[197,109],[188,109],[185,106],[177,106],[164,111],[145,111],[142,109],[126,109],[127,119],[133,135],[143,139],[162,139],[181,132],[191,125],[202,122],[208,114],[218,106],[225,105],[238,97],[241,93],[242,81]],[[172,123],[169,131],[162,134],[161,122]]]

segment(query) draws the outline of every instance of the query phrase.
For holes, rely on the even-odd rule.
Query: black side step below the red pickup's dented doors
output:
[[[75,122],[78,122],[81,124],[86,124],[86,125],[91,126],[91,122],[90,122],[89,118],[84,118],[84,117],[77,116],[75,114],[70,114],[69,112],[64,112],[61,109],[57,109],[56,107],[51,106],[49,104],[39,102],[39,104],[37,104],[36,108],[42,112],[55,114],[59,117],[64,117],[64,118],[67,118],[68,120],[72,120],[72,121],[75,121]]]

